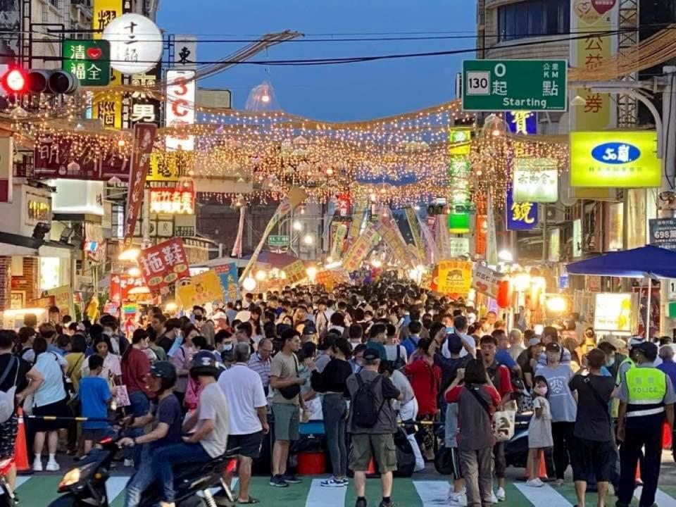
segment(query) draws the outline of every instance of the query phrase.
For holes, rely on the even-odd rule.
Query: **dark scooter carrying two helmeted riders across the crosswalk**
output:
[[[119,439],[111,437],[99,440],[101,449],[90,454],[80,466],[68,470],[58,484],[58,493],[65,493],[52,501],[49,507],[110,507],[112,499],[106,493],[111,462],[120,450]],[[182,465],[175,470],[174,489],[177,507],[216,507],[234,505],[232,492],[221,479],[221,471],[238,449],[208,463]],[[216,491],[218,490],[218,491]],[[160,487],[155,482],[142,494],[139,507],[158,505]],[[4,506],[2,506],[4,507]]]

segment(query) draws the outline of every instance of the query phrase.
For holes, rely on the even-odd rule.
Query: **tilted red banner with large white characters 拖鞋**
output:
[[[142,250],[139,265],[146,286],[153,294],[168,294],[173,284],[190,276],[183,240],[180,238],[169,239]]]

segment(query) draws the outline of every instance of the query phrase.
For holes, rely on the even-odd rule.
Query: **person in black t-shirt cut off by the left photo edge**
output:
[[[23,403],[29,394],[37,391],[44,381],[42,375],[30,363],[12,355],[12,346],[16,333],[9,330],[0,330],[0,392],[8,392],[16,387],[14,395],[14,411],[10,417],[0,423],[0,459],[13,458],[16,434],[18,432],[18,417],[16,408]],[[7,482],[12,489],[16,482],[16,467],[12,465],[7,476]]]

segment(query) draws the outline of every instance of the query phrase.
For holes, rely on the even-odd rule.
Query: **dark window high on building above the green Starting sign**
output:
[[[499,42],[569,32],[569,0],[528,0],[498,8]]]

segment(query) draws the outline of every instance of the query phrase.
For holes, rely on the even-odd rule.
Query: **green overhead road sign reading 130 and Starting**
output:
[[[465,60],[465,111],[565,111],[566,60]]]

